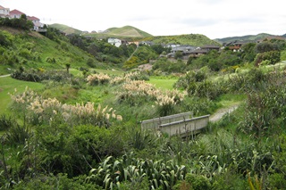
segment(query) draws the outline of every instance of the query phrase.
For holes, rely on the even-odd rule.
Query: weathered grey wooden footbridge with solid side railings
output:
[[[192,112],[183,112],[151,120],[143,120],[141,128],[169,136],[192,136],[206,128],[210,115],[192,118]]]

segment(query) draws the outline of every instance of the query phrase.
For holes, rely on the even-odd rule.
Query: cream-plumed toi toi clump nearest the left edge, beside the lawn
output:
[[[122,120],[121,115],[115,114],[113,108],[101,105],[95,109],[94,103],[76,103],[75,105],[60,103],[55,98],[44,99],[28,89],[21,95],[11,95],[18,109],[25,110],[25,119],[31,124],[52,124],[66,122],[73,125],[93,124],[99,127],[109,127],[110,120]]]

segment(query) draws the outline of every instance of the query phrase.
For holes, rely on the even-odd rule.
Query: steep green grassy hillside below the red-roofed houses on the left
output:
[[[0,46],[0,75],[20,66],[36,70],[64,69],[67,63],[71,68],[87,67],[88,59],[94,59],[68,41],[57,39],[55,42],[34,31],[25,33],[17,29],[1,29],[7,43]]]

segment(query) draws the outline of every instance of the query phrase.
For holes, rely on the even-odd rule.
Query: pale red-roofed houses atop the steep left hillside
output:
[[[1,18],[20,19],[22,14],[25,14],[25,13],[18,11],[17,9],[10,11],[9,8],[4,8],[3,6],[0,5],[0,17]],[[34,30],[39,30],[43,28],[44,24],[40,23],[40,20],[37,17],[27,16],[27,19],[33,22]]]

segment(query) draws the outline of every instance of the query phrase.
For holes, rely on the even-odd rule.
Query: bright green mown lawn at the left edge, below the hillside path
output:
[[[44,87],[41,83],[17,80],[11,77],[0,78],[0,114],[9,112],[9,104],[12,103],[10,95],[17,88],[17,93],[21,93],[29,87],[34,90]]]

